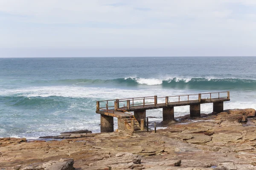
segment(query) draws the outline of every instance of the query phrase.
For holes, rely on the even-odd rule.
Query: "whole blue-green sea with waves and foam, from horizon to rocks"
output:
[[[97,100],[217,91],[230,91],[224,109],[256,109],[256,57],[0,58],[0,137],[99,132]],[[162,110],[147,116],[160,122]]]

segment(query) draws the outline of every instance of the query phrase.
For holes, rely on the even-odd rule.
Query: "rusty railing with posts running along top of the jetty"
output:
[[[225,94],[223,96],[223,94]],[[213,93],[202,93],[202,94],[185,94],[177,96],[146,96],[146,97],[134,97],[126,99],[112,99],[112,100],[103,100],[96,102],[96,111],[106,111],[109,113],[114,113],[114,111],[119,110],[119,105],[123,105],[122,111],[129,110],[136,106],[148,106],[148,105],[169,105],[169,103],[175,102],[191,102],[198,101],[202,102],[206,99],[230,99],[229,91],[213,92]],[[102,106],[103,105],[103,106]]]

